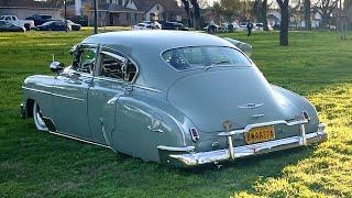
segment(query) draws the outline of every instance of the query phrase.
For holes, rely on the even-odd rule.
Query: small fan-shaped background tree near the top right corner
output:
[[[331,15],[337,6],[337,0],[318,0],[314,10],[321,15],[320,26],[327,29],[331,23]]]

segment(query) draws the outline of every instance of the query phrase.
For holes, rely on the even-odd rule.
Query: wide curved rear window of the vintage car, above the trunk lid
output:
[[[178,70],[209,68],[212,66],[251,66],[251,62],[239,51],[221,46],[194,46],[166,51],[165,62]]]

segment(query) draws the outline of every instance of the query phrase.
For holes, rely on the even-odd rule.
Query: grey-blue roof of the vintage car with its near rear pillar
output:
[[[184,73],[177,73],[165,63],[164,51],[186,46],[229,46],[230,42],[218,36],[184,31],[145,30],[121,31],[88,36],[81,44],[101,44],[128,55],[139,67],[135,84],[166,91]]]

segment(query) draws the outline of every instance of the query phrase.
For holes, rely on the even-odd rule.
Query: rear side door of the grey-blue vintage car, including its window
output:
[[[95,142],[106,144],[105,133],[116,130],[118,99],[132,90],[136,66],[123,54],[105,47],[99,53],[98,64],[88,91],[88,118]],[[132,70],[129,75],[128,66],[134,67],[129,69]]]

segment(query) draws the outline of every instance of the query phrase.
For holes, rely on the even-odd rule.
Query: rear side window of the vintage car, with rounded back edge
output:
[[[136,66],[125,57],[102,52],[99,76],[132,81],[136,75]]]

